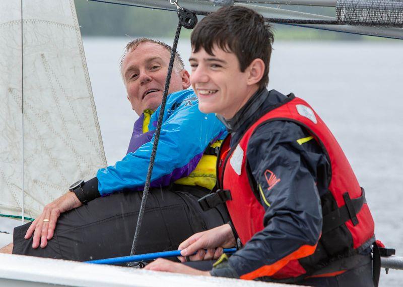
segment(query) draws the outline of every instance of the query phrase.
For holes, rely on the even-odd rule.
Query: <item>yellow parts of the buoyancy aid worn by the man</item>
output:
[[[150,124],[151,115],[154,113],[151,109],[145,109],[143,120],[143,134],[149,131],[148,126]],[[223,141],[216,141],[212,145],[213,148],[220,147]],[[176,184],[188,185],[188,186],[201,186],[209,190],[213,189],[216,185],[216,155],[204,154],[200,161],[197,163],[194,170],[185,178],[181,178],[175,181]]]

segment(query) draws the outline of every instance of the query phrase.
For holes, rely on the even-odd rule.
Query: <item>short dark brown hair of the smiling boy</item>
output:
[[[235,53],[241,72],[254,59],[263,60],[264,74],[258,84],[260,87],[267,86],[274,36],[270,25],[264,23],[260,14],[239,6],[221,8],[196,25],[190,41],[193,52],[204,48],[213,55],[216,44],[226,52]]]

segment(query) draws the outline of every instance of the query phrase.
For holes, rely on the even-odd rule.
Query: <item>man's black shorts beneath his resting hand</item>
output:
[[[223,205],[201,210],[197,200],[208,192],[182,185],[151,189],[136,254],[176,250],[194,233],[228,222]],[[24,239],[31,223],[16,227],[13,253],[76,261],[130,255],[141,199],[141,192],[115,193],[62,213],[43,249],[32,248],[32,237]]]

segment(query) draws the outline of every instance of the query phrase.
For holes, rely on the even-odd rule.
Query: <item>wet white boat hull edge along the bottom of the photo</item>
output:
[[[284,284],[221,277],[191,276],[74,261],[0,254],[0,286],[83,287],[263,287]]]

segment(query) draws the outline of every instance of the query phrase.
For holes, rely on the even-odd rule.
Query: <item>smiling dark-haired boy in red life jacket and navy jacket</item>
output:
[[[273,39],[262,16],[242,7],[207,16],[191,35],[190,82],[199,109],[217,113],[229,132],[218,158],[218,190],[200,204],[226,201],[232,223],[195,234],[179,249],[206,260],[236,242],[243,247],[211,271],[163,259],[146,268],[373,286],[374,222],[364,192],[314,110],[293,94],[266,90]]]

